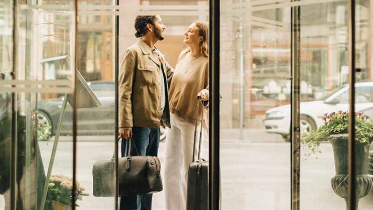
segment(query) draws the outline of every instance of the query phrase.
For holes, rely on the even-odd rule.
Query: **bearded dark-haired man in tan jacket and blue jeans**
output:
[[[119,72],[119,134],[133,136],[139,155],[157,156],[160,126],[170,127],[168,82],[173,71],[154,46],[163,40],[159,15],[137,16],[138,41],[124,51]],[[122,156],[125,142],[122,141]],[[134,147],[131,155],[136,155]],[[119,186],[121,187],[121,186]],[[152,194],[121,198],[120,210],[151,210]]]

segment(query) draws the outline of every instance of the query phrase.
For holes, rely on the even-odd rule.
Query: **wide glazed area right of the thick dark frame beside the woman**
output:
[[[222,209],[372,209],[372,3],[215,5]]]

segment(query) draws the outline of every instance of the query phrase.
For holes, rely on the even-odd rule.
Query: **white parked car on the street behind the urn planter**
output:
[[[357,82],[355,92],[357,111],[373,106],[373,81]],[[300,109],[301,133],[307,135],[323,124],[324,113],[349,110],[349,85],[342,85],[318,100],[302,102]],[[288,104],[267,110],[263,117],[263,125],[266,132],[280,134],[284,140],[289,140],[290,120]]]

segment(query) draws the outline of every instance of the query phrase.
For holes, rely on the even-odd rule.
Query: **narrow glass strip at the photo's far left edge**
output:
[[[13,56],[13,1],[0,2],[0,82],[10,79]],[[3,85],[0,85],[0,89]],[[0,209],[9,208],[11,170],[11,94],[0,91]],[[6,195],[8,194],[8,195]]]

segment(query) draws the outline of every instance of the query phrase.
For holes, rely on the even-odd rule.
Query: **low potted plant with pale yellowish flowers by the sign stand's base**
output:
[[[81,201],[85,188],[76,182],[77,196],[76,199]],[[51,175],[48,186],[48,194],[52,200],[54,210],[71,210],[72,205],[72,178],[65,175]],[[76,201],[74,201],[75,203]],[[75,206],[79,206],[75,203]]]

